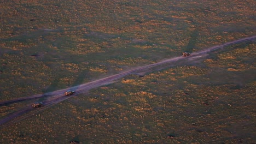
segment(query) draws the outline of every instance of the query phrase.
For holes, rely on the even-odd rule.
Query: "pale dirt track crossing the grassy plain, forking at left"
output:
[[[124,77],[126,75],[138,74],[138,73],[143,73],[143,72],[150,72],[150,71],[154,71],[154,70],[170,68],[170,67],[173,67],[173,66],[176,66],[176,65],[179,65],[179,64],[186,64],[186,63],[194,62],[194,61],[197,61],[199,59],[205,58],[207,56],[206,55],[207,53],[212,52],[214,50],[223,48],[223,47],[228,46],[228,45],[242,43],[242,42],[245,42],[245,41],[254,41],[255,39],[256,39],[256,35],[253,35],[252,37],[247,37],[247,38],[242,38],[242,39],[230,41],[228,43],[224,43],[224,44],[221,44],[221,45],[216,45],[216,46],[209,47],[208,49],[205,49],[205,50],[202,50],[202,51],[194,52],[189,57],[179,56],[179,57],[166,59],[165,61],[145,65],[143,67],[138,67],[138,68],[134,68],[134,69],[127,70],[127,71],[123,71],[122,73],[111,75],[111,76],[108,76],[108,77],[104,77],[103,79],[99,79],[99,80],[96,80],[96,81],[84,83],[82,85],[78,85],[78,86],[75,86],[75,87],[61,89],[61,90],[58,90],[58,91],[45,93],[45,94],[32,95],[30,97],[24,97],[24,98],[19,98],[19,99],[14,99],[14,100],[2,101],[2,102],[0,102],[0,106],[8,105],[8,104],[11,104],[11,103],[18,103],[19,101],[24,101],[24,100],[31,100],[31,99],[38,99],[38,98],[48,97],[48,99],[46,101],[44,101],[44,106],[43,107],[40,107],[38,109],[33,109],[31,106],[23,107],[21,110],[16,111],[14,113],[11,113],[7,117],[1,119],[0,120],[0,126],[2,125],[1,127],[4,127],[8,124],[20,121],[21,119],[27,118],[28,116],[31,116],[36,112],[42,111],[42,110],[44,110],[44,109],[46,109],[46,108],[48,108],[48,107],[50,107],[54,104],[60,103],[63,100],[71,98],[74,95],[89,91],[92,88],[107,85],[108,83],[113,82],[114,80],[120,79],[121,77]],[[63,92],[65,92],[68,89],[72,89],[73,91],[75,91],[75,94],[73,94],[71,97],[64,96]],[[28,113],[28,112],[30,112],[30,113]],[[28,114],[22,116],[24,113],[28,113]],[[13,121],[11,121],[12,119],[13,119]]]

